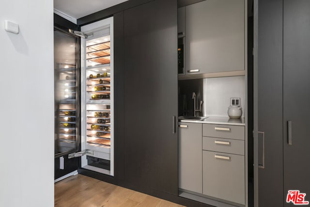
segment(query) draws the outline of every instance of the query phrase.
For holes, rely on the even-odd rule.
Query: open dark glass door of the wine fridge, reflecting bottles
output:
[[[78,41],[54,27],[55,158],[79,150]]]

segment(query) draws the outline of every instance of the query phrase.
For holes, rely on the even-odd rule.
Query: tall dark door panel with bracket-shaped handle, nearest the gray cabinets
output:
[[[259,206],[283,206],[282,0],[258,1],[258,131],[264,132]],[[262,136],[259,143],[262,144]],[[262,162],[263,147],[259,145]],[[262,164],[262,163],[260,163]]]

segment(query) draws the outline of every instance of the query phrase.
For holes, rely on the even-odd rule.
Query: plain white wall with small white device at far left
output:
[[[52,207],[53,0],[1,0],[0,70],[0,206]]]

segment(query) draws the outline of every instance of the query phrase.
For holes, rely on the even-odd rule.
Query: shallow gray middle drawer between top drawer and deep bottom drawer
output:
[[[202,149],[244,155],[244,141],[214,137],[202,137]]]

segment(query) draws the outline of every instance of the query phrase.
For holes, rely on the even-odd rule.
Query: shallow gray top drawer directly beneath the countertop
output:
[[[244,140],[245,129],[244,126],[203,124],[202,136]]]

